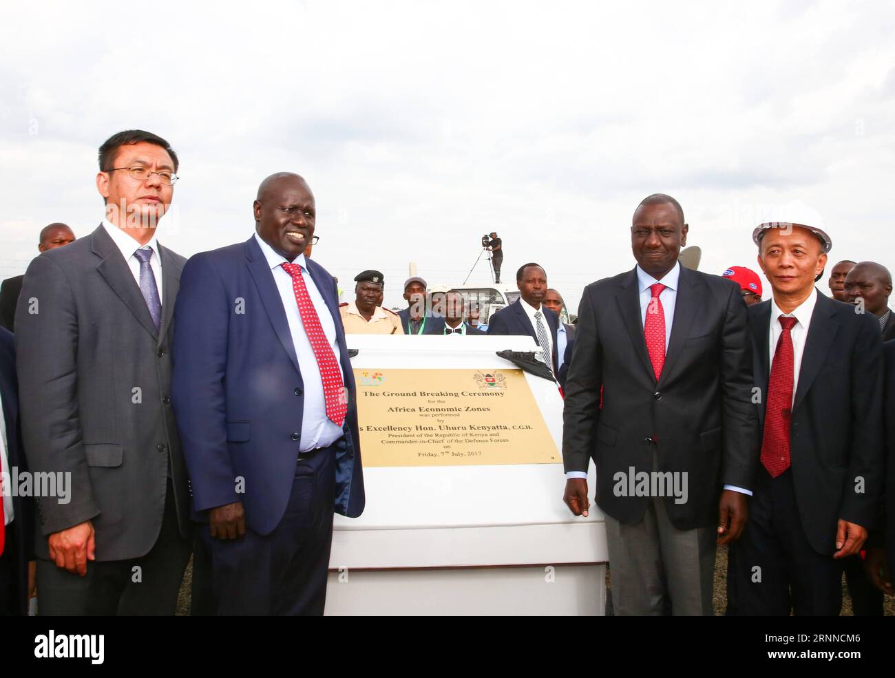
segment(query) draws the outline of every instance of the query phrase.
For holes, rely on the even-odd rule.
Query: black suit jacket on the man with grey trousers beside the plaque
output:
[[[675,527],[715,524],[724,485],[753,487],[759,446],[752,387],[746,305],[737,284],[681,268],[658,384],[636,268],[589,284],[566,382],[566,470],[586,471],[592,458],[597,504],[618,521],[636,524],[650,498],[621,496],[615,476],[627,479],[631,467],[650,473],[655,454],[658,470],[687,473],[687,501],[665,499]]]

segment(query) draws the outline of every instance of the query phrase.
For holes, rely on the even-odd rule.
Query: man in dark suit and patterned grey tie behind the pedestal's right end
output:
[[[516,271],[521,296],[488,319],[488,335],[528,335],[541,347],[544,362],[557,374],[557,327],[559,317],[543,306],[547,274],[538,264],[525,264]]]

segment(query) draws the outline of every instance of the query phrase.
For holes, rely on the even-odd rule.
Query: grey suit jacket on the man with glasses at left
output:
[[[15,316],[23,445],[31,470],[71,474],[68,503],[38,500],[40,557],[48,557],[48,535],[88,520],[97,560],[145,555],[161,529],[169,472],[180,530],[189,534],[186,467],[168,397],[171,318],[186,259],[158,250],[160,332],[101,225],[44,252],[25,273]]]

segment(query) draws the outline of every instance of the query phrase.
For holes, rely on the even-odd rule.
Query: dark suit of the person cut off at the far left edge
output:
[[[9,471],[17,467],[19,472],[28,470],[25,456],[21,449],[21,433],[19,429],[19,400],[15,376],[15,341],[13,335],[0,329],[0,398],[3,399],[3,417],[6,425],[6,452],[9,457]],[[9,610],[13,614],[28,614],[28,561],[34,559],[34,503],[30,498],[13,496],[13,530],[7,528],[7,540],[15,539],[15,548],[4,550],[2,558],[16,554],[14,563],[14,587],[16,592],[15,608]],[[11,534],[14,532],[14,534]],[[4,581],[6,585],[9,582]]]

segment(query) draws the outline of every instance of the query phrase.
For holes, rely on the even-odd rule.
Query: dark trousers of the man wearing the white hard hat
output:
[[[728,558],[728,614],[840,614],[842,563],[819,554],[799,518],[792,469],[761,466],[749,521]]]

